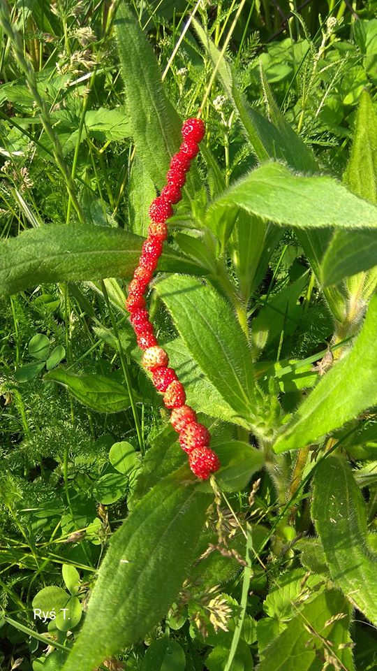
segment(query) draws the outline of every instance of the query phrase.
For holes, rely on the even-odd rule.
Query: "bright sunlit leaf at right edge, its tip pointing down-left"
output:
[[[276,440],[275,452],[318,443],[377,403],[377,296],[355,343],[323,376]]]

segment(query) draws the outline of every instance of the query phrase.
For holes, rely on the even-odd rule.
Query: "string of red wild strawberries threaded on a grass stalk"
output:
[[[219,470],[219,458],[209,448],[211,439],[209,431],[196,421],[193,408],[185,405],[186,394],[183,384],[179,382],[175,370],[169,368],[168,354],[165,349],[159,347],[154,337],[144,294],[156,270],[163,242],[168,238],[166,221],[172,216],[172,205],[182,199],[181,189],[186,182],[186,173],[191,161],[199,152],[199,143],[204,134],[205,125],[202,120],[188,119],[184,122],[182,127],[184,141],[179,147],[179,152],[170,161],[167,184],[149,208],[151,224],[148,237],[142,245],[139,265],[128,286],[126,301],[126,308],[131,313],[131,324],[136,333],[138,345],[144,351],[142,365],[149,370],[154,386],[163,394],[165,406],[172,410],[170,421],[175,431],[179,433],[179,442],[188,454],[191,470],[203,480]]]

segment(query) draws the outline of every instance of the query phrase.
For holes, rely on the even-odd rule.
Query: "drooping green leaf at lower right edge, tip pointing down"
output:
[[[312,516],[332,580],[377,625],[377,554],[367,545],[367,507],[340,454],[330,454],[318,463]]]

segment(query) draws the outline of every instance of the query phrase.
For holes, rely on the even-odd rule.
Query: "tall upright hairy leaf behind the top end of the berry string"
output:
[[[182,124],[165,94],[151,44],[128,3],[119,3],[114,28],[136,150],[161,189],[170,157],[181,143]]]

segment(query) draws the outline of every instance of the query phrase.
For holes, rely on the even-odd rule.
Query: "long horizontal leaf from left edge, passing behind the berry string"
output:
[[[0,242],[0,294],[43,282],[131,277],[144,238],[108,226],[49,224]],[[166,250],[158,270],[205,274],[182,254]]]

